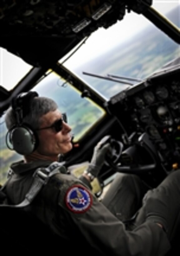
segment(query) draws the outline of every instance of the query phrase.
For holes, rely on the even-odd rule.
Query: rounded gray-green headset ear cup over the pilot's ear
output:
[[[13,150],[21,155],[31,154],[37,147],[37,136],[27,126],[17,126],[10,132]]]

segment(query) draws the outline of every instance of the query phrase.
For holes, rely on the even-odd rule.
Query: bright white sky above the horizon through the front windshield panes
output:
[[[180,5],[180,0],[176,1],[153,1],[153,8],[156,8],[161,13],[166,13]],[[132,26],[133,22],[133,26]],[[142,17],[135,12],[127,13],[123,20],[119,23],[114,24],[110,29],[100,28],[98,31],[94,32],[90,38],[85,42],[85,46],[82,46],[76,54],[76,59],[79,60],[80,65],[86,62],[86,59],[90,60],[98,55],[102,55],[106,52],[107,47],[115,47],[119,43],[124,43],[125,40],[133,37],[140,32],[145,27],[151,23],[148,19]],[[125,29],[124,29],[125,28]],[[117,32],[119,31],[119,32]],[[120,36],[119,36],[120,35]],[[113,38],[113,40],[112,40]],[[94,47],[92,47],[94,45]],[[89,51],[88,49],[92,49]],[[63,58],[65,59],[66,56]],[[63,61],[62,59],[62,61]],[[72,68],[74,65],[78,66],[79,63],[74,63],[74,60],[70,58],[66,63],[68,68]]]

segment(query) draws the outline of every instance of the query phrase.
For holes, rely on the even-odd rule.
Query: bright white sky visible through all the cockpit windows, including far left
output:
[[[176,7],[180,6],[179,0],[154,0],[153,7],[162,13],[166,13]],[[66,62],[66,66],[68,68],[73,68],[73,66],[82,65],[83,62],[87,62],[88,60],[97,57],[98,55],[103,54],[106,51],[107,47],[114,47],[119,42],[123,42],[124,39],[127,39],[127,36],[130,38],[137,30],[144,29],[149,21],[145,19],[142,22],[142,19],[136,19],[136,23],[133,20],[133,29],[132,29],[132,19],[133,16],[141,16],[134,12],[127,13],[123,20],[119,22],[119,24],[115,24],[111,27],[111,29],[99,29],[98,33],[95,32],[91,35],[90,38],[85,42],[78,52],[76,52],[76,58],[70,58]],[[117,26],[118,31],[117,33]],[[124,27],[126,29],[124,29]],[[115,34],[114,39],[112,40],[112,35]],[[119,37],[120,34],[120,37]],[[93,51],[90,48],[93,46]],[[66,59],[63,58],[62,61]],[[79,62],[78,62],[79,61]],[[13,56],[5,49],[0,48],[0,85],[4,86],[7,90],[12,89],[17,82],[21,79],[21,77],[26,74],[32,67],[25,63],[20,58]],[[8,70],[8,72],[7,72]]]

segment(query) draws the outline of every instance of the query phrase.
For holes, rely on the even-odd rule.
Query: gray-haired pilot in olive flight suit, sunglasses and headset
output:
[[[24,200],[36,170],[46,169],[72,149],[71,127],[53,100],[35,92],[18,97],[7,111],[6,125],[10,143],[14,150],[24,152],[24,160],[11,165],[4,187],[9,204]],[[33,146],[23,144],[24,130]],[[102,168],[108,150],[110,145],[103,138],[80,179],[61,165],[33,199],[29,211],[67,242],[66,253],[73,248],[78,255],[165,255],[180,210],[180,171],[152,190],[135,175],[119,174],[100,202],[92,194],[90,182]],[[133,223],[126,225],[133,215]]]

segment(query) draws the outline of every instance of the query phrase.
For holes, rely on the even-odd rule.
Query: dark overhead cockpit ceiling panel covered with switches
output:
[[[63,57],[99,27],[122,20],[126,9],[142,13],[151,4],[152,0],[0,0],[0,46],[42,66]]]

